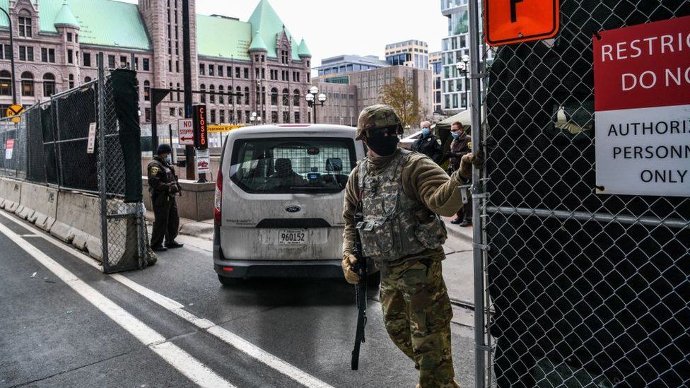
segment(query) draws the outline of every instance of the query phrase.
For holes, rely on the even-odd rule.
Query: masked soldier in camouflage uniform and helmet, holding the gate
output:
[[[385,327],[395,345],[419,369],[421,388],[458,387],[450,351],[452,310],[441,261],[447,234],[441,216],[462,206],[458,175],[467,175],[471,157],[450,177],[426,155],[397,148],[402,123],[387,105],[366,107],[357,139],[368,157],[351,172],[344,204],[343,270],[349,283],[355,233],[364,255],[381,271],[380,298]],[[363,223],[354,224],[361,206]]]

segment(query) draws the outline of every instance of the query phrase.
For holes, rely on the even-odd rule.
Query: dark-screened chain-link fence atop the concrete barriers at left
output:
[[[75,228],[100,240],[89,250],[100,249],[95,256],[106,273],[143,268],[152,254],[146,248],[137,112],[136,73],[118,69],[106,76],[101,67],[97,80],[28,108],[18,123],[0,120],[0,176],[98,196],[100,209],[84,210],[96,220]],[[74,226],[70,219],[57,221]]]

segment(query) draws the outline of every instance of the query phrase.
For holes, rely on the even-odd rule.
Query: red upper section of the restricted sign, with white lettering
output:
[[[690,104],[690,16],[594,37],[595,110]]]

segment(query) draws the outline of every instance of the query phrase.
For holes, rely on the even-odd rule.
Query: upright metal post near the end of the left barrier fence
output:
[[[100,242],[103,249],[103,271],[108,272],[107,187],[105,176],[105,69],[103,53],[98,53],[98,192],[100,198]]]

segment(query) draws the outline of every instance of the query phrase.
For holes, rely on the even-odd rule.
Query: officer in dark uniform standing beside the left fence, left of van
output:
[[[172,148],[169,144],[160,144],[156,149],[156,156],[148,163],[148,192],[151,192],[153,205],[153,233],[151,235],[151,249],[156,252],[171,248],[182,247],[175,241],[177,229],[180,227],[180,216],[177,215],[175,196],[180,192],[175,170],[170,160]],[[163,246],[165,239],[165,246]]]

